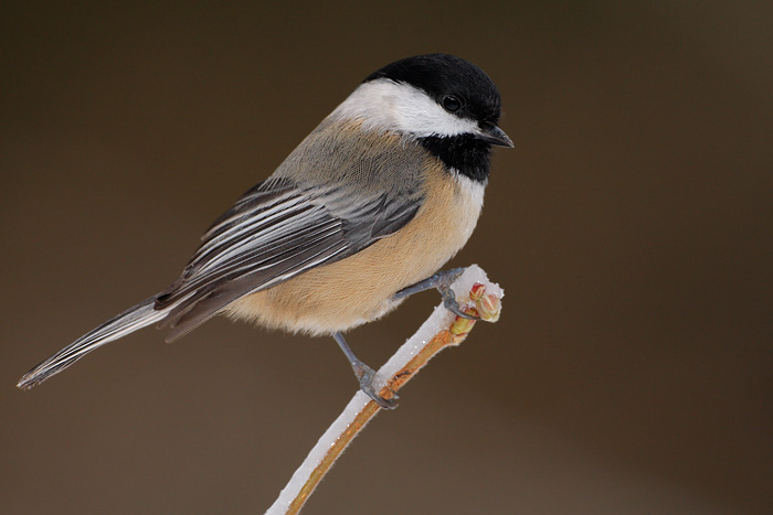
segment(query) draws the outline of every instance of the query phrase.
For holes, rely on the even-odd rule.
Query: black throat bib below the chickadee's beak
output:
[[[491,146],[473,135],[426,136],[419,142],[443,163],[478,183],[486,183]]]

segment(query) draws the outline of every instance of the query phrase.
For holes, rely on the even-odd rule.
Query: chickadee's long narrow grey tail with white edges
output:
[[[155,310],[155,302],[156,297],[146,299],[139,304],[108,320],[94,331],[84,334],[24,374],[24,376],[19,379],[17,386],[22,389],[30,389],[52,375],[65,369],[95,348],[162,320],[169,314],[169,311]]]

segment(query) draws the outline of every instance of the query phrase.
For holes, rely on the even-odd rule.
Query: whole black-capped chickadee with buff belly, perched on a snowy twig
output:
[[[31,388],[96,347],[159,322],[167,341],[215,314],[293,333],[332,335],[371,398],[373,371],[342,332],[416,291],[455,303],[458,270],[435,273],[480,214],[500,96],[445,54],[389,64],[366,78],[264,182],[218,218],[180,278],[80,337],[28,374]]]

